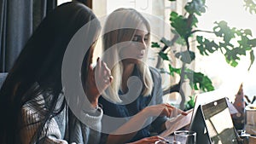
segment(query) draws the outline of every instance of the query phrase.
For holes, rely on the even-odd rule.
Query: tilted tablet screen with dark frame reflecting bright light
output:
[[[234,128],[226,98],[212,101],[203,105],[208,134],[212,143],[237,144],[236,129]]]

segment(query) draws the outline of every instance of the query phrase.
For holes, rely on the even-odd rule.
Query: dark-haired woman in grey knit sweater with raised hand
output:
[[[69,88],[63,87],[63,78],[61,80],[68,43],[81,28],[84,29],[80,38],[89,45],[83,49],[85,56],[79,69],[86,99],[90,101],[87,109],[83,109],[85,122],[67,107],[63,91]],[[90,66],[93,43],[100,30],[95,14],[82,3],[64,3],[42,21],[0,91],[1,144],[98,143],[102,108],[98,107],[97,99],[101,90],[96,89],[94,78],[108,78],[102,83],[102,89],[111,81],[102,60],[97,60],[96,68],[104,75],[101,72],[97,75]],[[76,55],[71,58],[75,59]],[[72,99],[80,102],[77,95]]]

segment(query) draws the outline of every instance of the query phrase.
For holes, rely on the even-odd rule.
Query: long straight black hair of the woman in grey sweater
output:
[[[44,18],[20,52],[0,90],[0,143],[20,143],[20,109],[38,95],[47,94],[46,98],[50,98],[49,107],[42,108],[45,116],[43,122],[40,122],[37,139],[47,120],[64,109],[66,101],[61,101],[61,107],[56,109],[56,103],[60,96],[63,96],[62,59],[73,35],[94,19],[96,16],[90,9],[75,2],[61,4]],[[95,28],[95,35],[100,29],[99,22],[97,24],[98,26],[92,28]],[[90,53],[91,51],[88,50]],[[89,59],[90,56],[86,54],[84,61],[91,61]],[[86,69],[82,68],[83,72],[86,72]]]

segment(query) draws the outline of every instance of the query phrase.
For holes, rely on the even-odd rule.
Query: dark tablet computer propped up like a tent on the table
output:
[[[189,130],[196,132],[196,144],[240,144],[226,98],[200,105]]]

